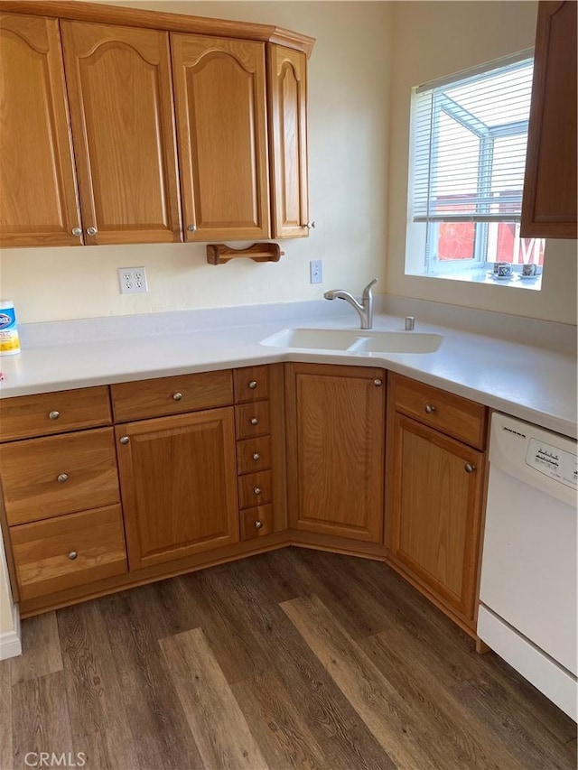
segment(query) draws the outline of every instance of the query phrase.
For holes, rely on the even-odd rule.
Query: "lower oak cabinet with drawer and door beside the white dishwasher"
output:
[[[485,409],[404,377],[391,376],[390,383],[387,557],[438,606],[472,626],[485,455],[448,433],[463,431],[483,443]]]

